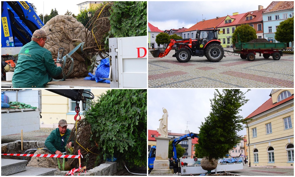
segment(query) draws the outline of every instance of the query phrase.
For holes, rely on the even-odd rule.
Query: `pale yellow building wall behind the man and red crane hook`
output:
[[[108,89],[84,89],[94,94],[94,101],[98,99],[102,93],[106,93]],[[58,121],[65,119],[68,127],[72,128],[75,124],[74,116],[76,115],[76,101],[67,97],[60,96],[45,89],[41,90],[42,94],[42,118],[40,119],[40,127],[57,128]],[[82,103],[80,103],[80,114],[83,118]]]

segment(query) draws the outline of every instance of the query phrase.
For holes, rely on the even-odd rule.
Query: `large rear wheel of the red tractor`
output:
[[[224,50],[221,45],[213,43],[206,47],[205,55],[209,61],[218,62],[224,56]]]

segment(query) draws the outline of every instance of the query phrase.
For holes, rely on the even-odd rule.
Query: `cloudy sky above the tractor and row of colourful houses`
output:
[[[190,28],[203,19],[265,9],[272,1],[148,1],[148,22],[159,30]]]

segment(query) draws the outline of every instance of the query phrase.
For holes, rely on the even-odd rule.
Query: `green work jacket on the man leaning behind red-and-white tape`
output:
[[[45,146],[52,153],[55,153],[56,150],[59,150],[60,152],[63,153],[63,152],[65,152],[65,146],[67,145],[67,142],[68,142],[68,139],[69,139],[70,135],[71,135],[71,130],[70,129],[67,129],[67,131],[65,132],[65,135],[64,135],[65,136],[64,146],[63,146],[63,148],[60,148],[61,143],[62,143],[62,140],[61,140],[59,129],[56,128],[46,138],[46,140],[45,140]]]

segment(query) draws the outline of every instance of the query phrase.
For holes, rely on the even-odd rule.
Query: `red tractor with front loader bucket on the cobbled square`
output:
[[[217,29],[197,30],[196,39],[171,39],[164,49],[151,50],[150,53],[155,58],[162,58],[168,55],[173,45],[176,45],[175,54],[172,55],[181,63],[186,63],[191,56],[205,56],[209,61],[218,62],[224,56],[221,42],[217,40]]]

